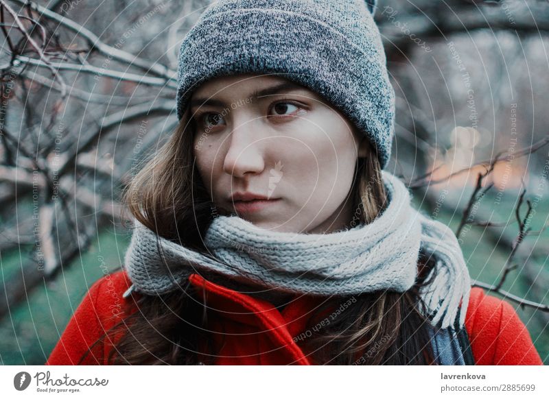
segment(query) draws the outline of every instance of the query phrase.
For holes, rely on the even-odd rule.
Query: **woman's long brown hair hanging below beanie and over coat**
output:
[[[186,115],[169,141],[128,184],[124,202],[133,217],[159,236],[194,250],[205,250],[201,237],[213,218],[215,206],[194,167],[194,123],[186,123]],[[369,152],[366,158],[358,158],[355,167],[348,198],[356,210],[351,223],[373,221],[386,204],[381,168],[372,147]],[[306,327],[314,333],[299,343],[309,359],[315,364],[434,364],[428,335],[430,323],[419,296],[419,289],[430,283],[425,276],[432,265],[421,254],[419,259],[417,281],[404,293],[383,290],[326,298]],[[183,291],[164,295],[132,297],[139,311],[95,342],[108,339],[112,345],[107,363],[215,362],[211,337],[206,333],[206,306],[191,285],[187,283]],[[343,303],[348,307],[328,326],[314,328],[326,312]],[[119,339],[111,339],[113,335]],[[211,356],[199,356],[198,352]]]

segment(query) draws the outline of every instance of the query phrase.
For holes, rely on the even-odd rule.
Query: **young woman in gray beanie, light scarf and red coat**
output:
[[[395,95],[374,6],[205,11],[181,46],[178,128],[125,192],[124,266],[47,364],[541,364],[384,171]]]

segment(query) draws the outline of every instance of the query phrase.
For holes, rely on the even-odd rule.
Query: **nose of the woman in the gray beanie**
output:
[[[263,145],[261,137],[256,134],[259,129],[254,121],[245,121],[233,129],[223,163],[225,173],[243,178],[246,174],[264,170]]]

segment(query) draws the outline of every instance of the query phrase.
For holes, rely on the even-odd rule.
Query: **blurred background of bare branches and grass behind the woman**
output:
[[[120,267],[121,190],[176,126],[205,0],[0,0],[0,364],[41,365]],[[456,232],[549,364],[549,3],[379,0],[397,93],[388,170]]]

